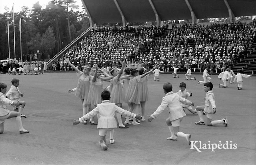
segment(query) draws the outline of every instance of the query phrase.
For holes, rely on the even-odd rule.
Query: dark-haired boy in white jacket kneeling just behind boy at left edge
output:
[[[23,97],[23,93],[20,92],[20,90],[18,88],[18,86],[20,85],[20,80],[17,78],[13,78],[11,80],[11,83],[13,85],[11,85],[11,88],[6,93],[6,97],[7,98],[10,97],[10,100],[12,100],[12,101],[19,102],[19,106],[13,107],[13,110],[16,112],[20,112],[21,118],[26,118],[27,116],[22,114],[22,111],[23,111],[26,103],[24,101],[20,101],[20,96]]]

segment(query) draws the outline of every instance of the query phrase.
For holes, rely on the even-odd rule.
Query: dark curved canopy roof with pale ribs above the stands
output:
[[[256,15],[256,0],[82,0],[95,24]]]

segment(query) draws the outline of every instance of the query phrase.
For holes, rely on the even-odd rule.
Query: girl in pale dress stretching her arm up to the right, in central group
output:
[[[129,111],[130,112],[135,112],[138,113],[139,112],[139,107],[140,107],[140,100],[141,100],[141,90],[138,90],[138,85],[139,85],[139,81],[141,80],[141,78],[145,77],[146,75],[152,73],[155,69],[156,69],[155,65],[153,67],[153,69],[151,69],[150,71],[148,71],[147,73],[144,73],[142,75],[138,76],[138,70],[137,69],[132,69],[131,70],[131,77],[130,77],[130,83],[128,86],[128,92],[126,94],[126,102],[128,103],[129,106]],[[129,118],[126,117],[126,120],[124,121],[125,124],[129,125]],[[133,119],[132,121],[133,125],[138,125],[140,124],[139,122],[137,122],[135,119]]]

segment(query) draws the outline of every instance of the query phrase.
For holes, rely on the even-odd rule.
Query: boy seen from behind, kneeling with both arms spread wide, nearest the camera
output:
[[[108,146],[106,143],[106,134],[109,132],[109,142],[111,144],[115,143],[114,140],[114,129],[117,127],[117,121],[115,120],[115,114],[120,113],[126,116],[129,116],[131,118],[136,118],[138,120],[141,119],[140,116],[137,116],[135,113],[131,113],[129,111],[126,111],[117,105],[115,103],[109,102],[110,99],[110,92],[109,91],[103,91],[101,93],[102,103],[98,104],[95,109],[93,109],[91,112],[85,114],[82,118],[79,118],[79,120],[75,120],[73,122],[73,125],[77,125],[78,123],[82,123],[83,121],[88,120],[89,118],[92,118],[93,116],[99,114],[98,118],[98,131],[100,136],[100,145],[103,150],[107,150]]]

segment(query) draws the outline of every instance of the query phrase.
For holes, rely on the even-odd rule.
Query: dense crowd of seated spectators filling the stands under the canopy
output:
[[[120,60],[130,64],[143,63],[150,68],[160,64],[164,71],[174,66],[179,71],[203,71],[205,66],[213,72],[232,67],[247,54],[256,42],[256,21],[250,24],[232,22],[225,24],[166,27],[100,27],[74,45],[64,55],[78,68],[120,66]],[[54,62],[53,69],[68,70],[63,58]]]

